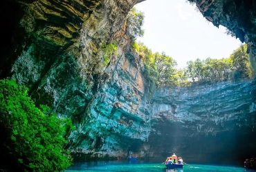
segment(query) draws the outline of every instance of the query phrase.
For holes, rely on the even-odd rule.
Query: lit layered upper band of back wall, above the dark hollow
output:
[[[245,126],[253,131],[255,90],[250,81],[160,89],[153,98],[154,118],[181,122],[183,127],[194,123],[190,129],[205,135]]]

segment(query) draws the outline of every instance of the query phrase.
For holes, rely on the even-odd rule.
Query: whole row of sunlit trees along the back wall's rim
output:
[[[143,43],[134,43],[134,48],[143,56],[145,77],[157,87],[188,86],[193,83],[217,83],[223,80],[254,78],[250,67],[247,45],[241,45],[229,58],[207,58],[188,61],[185,69],[176,69],[176,61],[164,52],[152,53]]]

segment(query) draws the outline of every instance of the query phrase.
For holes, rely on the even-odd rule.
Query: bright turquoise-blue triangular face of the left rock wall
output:
[[[136,52],[128,57],[123,50],[118,47],[116,63],[107,67],[104,84],[91,100],[89,116],[71,133],[75,153],[127,157],[134,140],[147,141],[151,126],[142,64],[136,63]]]

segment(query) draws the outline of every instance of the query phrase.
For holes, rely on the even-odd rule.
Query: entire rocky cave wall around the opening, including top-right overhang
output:
[[[1,78],[30,89],[37,105],[71,118],[68,147],[84,158],[243,162],[256,153],[255,81],[158,89],[143,76],[126,15],[136,0],[4,0]],[[256,3],[193,1],[215,26],[248,43],[255,67]],[[102,44],[118,54],[103,65]],[[256,68],[255,68],[256,69]]]

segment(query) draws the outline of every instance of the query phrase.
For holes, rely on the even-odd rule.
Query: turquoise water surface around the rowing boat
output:
[[[191,167],[192,166],[192,167]],[[184,164],[183,169],[170,169],[166,170],[164,169],[164,164],[154,164],[154,163],[114,163],[114,162],[97,162],[94,164],[88,164],[88,163],[79,163],[75,164],[75,166],[71,166],[68,170],[65,172],[91,172],[91,171],[122,171],[122,172],[154,172],[154,171],[160,171],[160,172],[194,172],[194,171],[205,171],[205,172],[244,172],[244,171],[251,171],[244,169],[244,167],[239,166],[217,166],[217,165],[205,165],[205,164],[190,164],[190,166]]]

